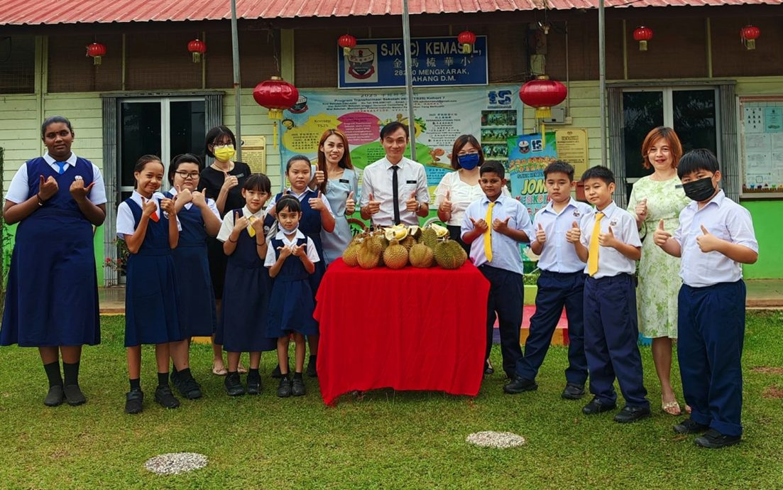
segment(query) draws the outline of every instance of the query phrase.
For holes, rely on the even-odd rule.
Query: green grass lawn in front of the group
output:
[[[303,398],[276,398],[271,354],[262,358],[262,395],[229,398],[222,378],[207,374],[211,349],[193,345],[193,371],[205,397],[168,411],[153,402],[153,351],[145,348],[145,411],[127,416],[122,332],[121,316],[103,318],[103,344],[85,348],[82,358],[89,401],[76,408],[42,405],[37,351],[0,350],[0,487],[783,488],[783,400],[763,396],[769,387],[783,387],[783,375],[753,369],[783,367],[781,312],[749,315],[745,439],[718,451],[674,434],[678,418],[657,409],[651,420],[631,425],[612,422],[612,413],[583,416],[586,400],[559,396],[565,348],[550,350],[536,392],[503,395],[495,374],[474,399],[381,390],[327,408],[316,380],[306,380]],[[651,353],[641,351],[655,407],[660,391]],[[499,365],[499,352],[493,356]],[[679,380],[676,390],[681,394]],[[467,434],[486,430],[521,434],[528,444],[480,449],[465,443]],[[203,453],[210,463],[173,477],[143,469],[152,456],[181,451]]]

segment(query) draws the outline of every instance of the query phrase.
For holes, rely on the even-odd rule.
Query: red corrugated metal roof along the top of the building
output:
[[[780,5],[781,0],[605,0],[607,7]],[[5,0],[0,25],[229,19],[228,0]],[[410,13],[597,9],[598,0],[410,0]],[[397,16],[401,0],[236,0],[240,19]]]

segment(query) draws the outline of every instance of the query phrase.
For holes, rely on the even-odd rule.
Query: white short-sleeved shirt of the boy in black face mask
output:
[[[705,287],[742,279],[742,264],[716,250],[705,253],[698,247],[696,237],[703,234],[702,225],[721,240],[759,251],[749,211],[729,199],[723,190],[702,209],[693,201],[680,212],[680,228],[673,236],[680,243],[683,282],[691,287]]]

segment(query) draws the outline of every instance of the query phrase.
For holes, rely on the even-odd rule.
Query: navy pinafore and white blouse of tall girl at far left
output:
[[[62,172],[60,172],[62,167]],[[105,204],[99,169],[74,153],[58,164],[46,153],[21,166],[5,199],[23,203],[38,193],[40,176],[53,177],[59,189],[16,227],[0,345],[76,346],[100,343],[98,279],[92,223],[70,196],[81,176],[92,204]]]

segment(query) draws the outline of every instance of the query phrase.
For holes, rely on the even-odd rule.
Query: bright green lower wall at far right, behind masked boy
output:
[[[750,211],[756,240],[759,241],[759,261],[745,265],[745,279],[783,279],[783,200],[743,201]]]

